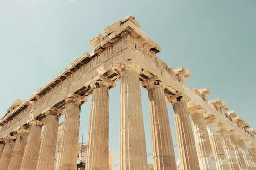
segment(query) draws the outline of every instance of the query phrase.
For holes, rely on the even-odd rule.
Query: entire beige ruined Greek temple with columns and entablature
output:
[[[161,47],[134,17],[106,27],[89,45],[92,53],[28,100],[16,100],[0,119],[0,170],[77,170],[80,107],[91,95],[85,169],[109,170],[108,92],[119,80],[120,170],[148,170],[141,87],[148,91],[153,170],[256,170],[256,131],[221,99],[208,101],[209,88],[190,89],[189,70],[173,69],[157,57]],[[178,166],[168,104],[174,110]]]

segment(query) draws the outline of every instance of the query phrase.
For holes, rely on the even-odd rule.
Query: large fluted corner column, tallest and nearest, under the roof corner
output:
[[[148,166],[140,71],[136,66],[128,66],[120,73],[120,170],[147,170]]]

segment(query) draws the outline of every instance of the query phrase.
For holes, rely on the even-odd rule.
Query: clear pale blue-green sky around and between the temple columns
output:
[[[255,0],[0,0],[0,116],[15,99],[28,99],[77,57],[91,52],[88,41],[127,15],[135,16],[160,44],[163,61],[189,69],[189,88],[209,87],[209,100],[220,97],[256,128]],[[118,84],[110,91],[109,103],[115,163],[119,90]],[[141,95],[150,153],[148,94],[141,89]],[[87,141],[90,100],[81,109],[80,140],[83,134]],[[176,144],[169,105],[168,111]]]

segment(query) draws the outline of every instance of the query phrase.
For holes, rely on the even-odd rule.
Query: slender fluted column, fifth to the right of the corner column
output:
[[[238,159],[236,157],[235,149],[231,143],[227,127],[221,124],[219,124],[218,127],[224,152],[229,163],[229,168],[230,170],[239,170]]]

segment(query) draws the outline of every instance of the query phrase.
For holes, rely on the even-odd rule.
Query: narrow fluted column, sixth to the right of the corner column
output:
[[[245,159],[243,157],[243,150],[239,146],[239,135],[236,132],[230,132],[231,143],[234,147],[236,157],[238,159],[238,165],[240,170],[248,170]]]

